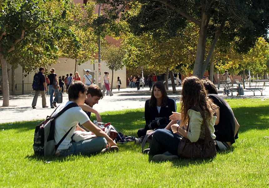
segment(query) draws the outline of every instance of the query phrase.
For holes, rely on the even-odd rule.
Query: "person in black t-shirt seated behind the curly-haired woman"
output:
[[[216,149],[226,150],[235,143],[235,139],[238,138],[239,124],[234,116],[234,113],[230,105],[218,96],[218,90],[215,85],[208,79],[202,80],[207,92],[208,97],[219,106],[217,111],[217,119],[215,122],[215,135],[216,135]]]

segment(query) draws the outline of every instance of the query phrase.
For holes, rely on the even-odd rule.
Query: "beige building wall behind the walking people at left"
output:
[[[70,73],[72,73],[74,76],[75,60],[61,57],[57,60],[57,62],[59,63],[53,64],[52,66],[47,67],[48,72],[51,68],[55,68],[55,73],[57,74],[57,77],[63,76],[63,75],[66,76],[66,74],[70,74]],[[9,90],[11,91],[11,67],[8,67],[8,68],[9,68],[9,71],[8,71]],[[95,68],[95,71],[94,71],[94,68]],[[84,72],[84,69],[90,69],[91,70],[90,74],[92,74],[93,77],[94,77],[94,72],[95,72],[95,75],[96,75],[95,79],[98,85],[98,60],[95,60],[94,64],[85,62],[82,65],[77,65],[76,71],[79,72],[81,81],[83,80],[83,76],[86,73]],[[109,70],[109,68],[105,65],[105,62],[102,61],[101,62],[101,84],[104,81],[103,76],[104,76],[105,71],[109,72],[109,78],[110,78],[110,83],[111,83],[112,71]],[[36,72],[31,72],[29,73],[27,77],[24,77],[25,93],[33,92],[32,83],[33,83],[33,76],[35,73]],[[122,81],[121,88],[126,88],[126,67],[123,67],[122,70],[118,70],[116,72],[114,71],[113,89],[116,88],[115,83],[118,76],[121,78],[121,81]],[[16,95],[22,94],[22,79],[23,79],[22,67],[18,67],[15,70],[15,84],[17,85],[16,93],[15,93]]]

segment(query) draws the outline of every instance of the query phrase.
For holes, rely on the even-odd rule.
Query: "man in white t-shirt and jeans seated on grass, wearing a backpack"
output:
[[[53,116],[56,115],[71,102],[75,102],[78,105],[77,107],[72,107],[63,112],[63,114],[55,120],[55,145],[72,127],[69,134],[58,147],[55,153],[56,156],[87,155],[100,152],[106,147],[116,147],[116,143],[104,131],[95,126],[93,122],[90,121],[89,116],[87,116],[82,108],[79,107],[84,105],[85,99],[87,99],[87,89],[87,86],[80,81],[72,82],[68,90],[69,101],[62,103],[53,113]],[[93,132],[96,137],[79,142],[72,141],[71,137],[74,134],[78,123],[87,130]]]

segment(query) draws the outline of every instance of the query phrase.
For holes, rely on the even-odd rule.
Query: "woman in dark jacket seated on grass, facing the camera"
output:
[[[140,144],[148,130],[165,128],[169,123],[172,111],[176,111],[175,100],[167,96],[163,82],[156,82],[153,85],[150,99],[145,103],[145,128],[137,131],[139,138],[135,140],[135,143]]]

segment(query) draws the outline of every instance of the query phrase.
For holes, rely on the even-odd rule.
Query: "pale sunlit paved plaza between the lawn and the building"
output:
[[[180,101],[182,87],[176,87],[177,93],[172,93],[172,87],[169,87],[168,96],[175,99],[176,102]],[[223,88],[220,88],[219,95],[227,98],[223,93]],[[94,105],[94,109],[99,112],[104,111],[117,111],[124,109],[135,109],[135,108],[144,108],[145,101],[150,98],[149,87],[144,87],[137,91],[136,88],[124,88],[114,89],[113,96],[104,96],[103,99],[99,100],[98,104]],[[233,93],[234,96],[228,96],[228,98],[269,98],[269,87],[261,92],[253,92],[244,90],[244,95],[239,97],[236,96],[236,92]],[[0,106],[0,123],[9,123],[14,121],[31,121],[31,120],[42,120],[46,118],[47,115],[50,115],[54,109],[42,108],[41,95],[39,95],[37,100],[36,109],[31,107],[34,94],[27,95],[17,95],[10,96],[9,107]],[[47,106],[50,106],[49,95],[46,95]],[[68,101],[68,94],[63,94],[63,102]],[[3,104],[3,96],[0,96],[0,105]],[[57,104],[59,105],[59,104]]]

